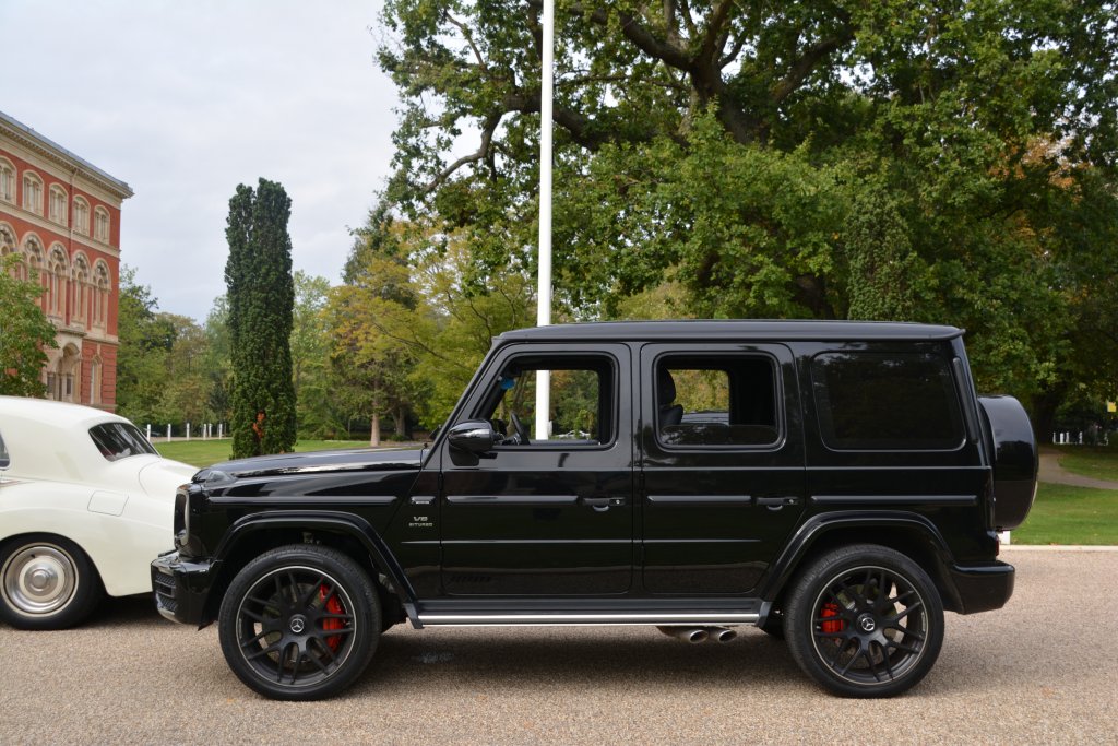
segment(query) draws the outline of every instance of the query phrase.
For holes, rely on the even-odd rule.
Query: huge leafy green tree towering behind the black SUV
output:
[[[541,4],[385,4],[389,207],[457,236],[467,283],[534,273]],[[1118,242],[1088,226],[1118,210],[1115,16],[558,0],[557,302],[612,317],[671,286],[683,315],[956,323],[984,387],[1101,381],[1114,341],[1072,340],[1114,315]]]

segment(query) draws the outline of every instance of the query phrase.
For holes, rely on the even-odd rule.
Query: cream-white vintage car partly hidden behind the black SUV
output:
[[[172,548],[174,490],[193,466],[91,407],[0,396],[0,618],[78,624],[107,593],[151,592]]]

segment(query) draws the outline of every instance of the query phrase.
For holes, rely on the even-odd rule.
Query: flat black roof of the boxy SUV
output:
[[[771,340],[771,341],[928,341],[961,337],[956,327],[896,321],[678,320],[599,321],[517,329],[500,341],[576,340]]]

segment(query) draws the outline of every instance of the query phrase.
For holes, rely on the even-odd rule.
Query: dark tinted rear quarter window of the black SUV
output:
[[[812,361],[819,432],[836,451],[953,451],[963,417],[947,360],[827,352]]]

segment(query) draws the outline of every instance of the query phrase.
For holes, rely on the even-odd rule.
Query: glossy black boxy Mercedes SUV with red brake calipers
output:
[[[752,624],[831,691],[929,671],[944,611],[1003,606],[997,531],[1033,501],[1021,405],[977,397],[963,332],[684,321],[496,338],[423,450],[205,469],[176,498],[160,612],[250,688],[315,699],[390,625]],[[549,434],[533,437],[538,380]]]

